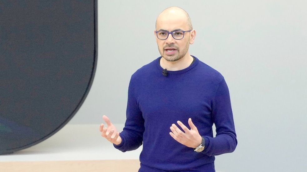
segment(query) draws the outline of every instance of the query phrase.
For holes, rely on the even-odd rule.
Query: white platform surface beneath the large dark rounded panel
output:
[[[134,151],[121,152],[100,135],[99,125],[68,123],[37,145],[13,154],[0,155],[0,161],[139,159],[142,146]],[[114,125],[119,132],[124,127],[124,124]]]

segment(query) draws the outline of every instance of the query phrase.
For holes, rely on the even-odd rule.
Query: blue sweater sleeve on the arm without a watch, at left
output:
[[[113,144],[122,152],[136,150],[143,144],[144,119],[136,102],[134,89],[132,75],[128,87],[126,122],[123,131],[119,134],[122,141],[119,145]]]

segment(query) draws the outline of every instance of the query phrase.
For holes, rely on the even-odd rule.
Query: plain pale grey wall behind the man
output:
[[[219,71],[230,90],[238,146],[219,171],[305,171],[307,1],[98,0],[98,65],[71,124],[125,123],[131,75],[160,56],[154,30],[167,7],[196,30],[190,54]]]

